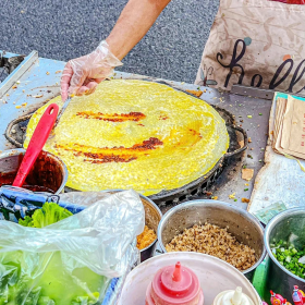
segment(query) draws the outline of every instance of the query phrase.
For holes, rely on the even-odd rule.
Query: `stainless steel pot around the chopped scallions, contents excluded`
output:
[[[265,230],[265,246],[268,252],[265,298],[270,297],[270,290],[281,294],[292,303],[293,285],[304,290],[305,280],[285,269],[272,255],[270,243],[279,240],[289,241],[291,234],[297,236],[293,244],[296,248],[305,246],[305,209],[288,209],[273,217]],[[293,303],[292,303],[293,304]]]

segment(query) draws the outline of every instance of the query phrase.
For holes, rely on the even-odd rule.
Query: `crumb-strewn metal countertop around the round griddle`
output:
[[[35,58],[34,56],[25,58],[24,62],[27,63],[28,61],[30,62],[28,63],[27,70],[19,76],[19,78],[13,77],[14,80],[12,80],[15,82],[20,81],[17,88],[13,89],[12,87],[5,87],[5,90],[3,90],[3,85],[5,84],[0,84],[0,99],[7,102],[0,102],[0,150],[12,147],[4,137],[5,129],[12,120],[33,112],[38,108],[37,105],[41,106],[48,99],[60,94],[60,71],[62,71],[64,62]],[[15,71],[13,74],[14,73]],[[221,93],[208,87],[198,88],[198,86],[192,84],[156,80],[129,73],[117,72],[114,78],[159,81],[183,90],[200,89],[203,91],[200,99],[233,113],[235,115],[236,124],[241,124],[247,132],[252,143],[249,143],[249,148],[244,154],[244,159],[242,159],[241,156],[236,156],[234,157],[236,158],[235,160],[231,159],[232,167],[229,164],[224,168],[220,179],[212,187],[212,196],[218,196],[219,200],[229,202],[244,209],[247,208],[247,204],[242,203],[241,199],[243,197],[249,198],[255,175],[264,164],[263,149],[265,149],[267,142],[268,119],[271,106],[270,100],[254,97],[255,90],[252,93],[252,97],[248,97]],[[23,102],[27,102],[27,106],[22,107],[21,109],[15,108],[16,105]],[[261,115],[259,115],[259,113],[261,113]],[[248,183],[241,178],[243,166],[254,169],[254,178]],[[248,186],[245,186],[245,183],[247,183]],[[235,193],[236,202],[234,202],[234,199],[229,199],[229,195],[233,193]],[[200,197],[207,197],[207,195],[202,195]],[[208,195],[208,197],[210,197],[210,195]]]

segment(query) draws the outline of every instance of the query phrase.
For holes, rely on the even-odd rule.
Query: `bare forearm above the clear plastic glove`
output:
[[[171,0],[130,0],[106,39],[111,52],[122,60],[145,36]]]

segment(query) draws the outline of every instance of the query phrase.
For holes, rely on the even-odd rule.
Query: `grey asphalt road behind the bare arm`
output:
[[[127,0],[2,0],[0,49],[68,61],[107,37]],[[121,71],[191,82],[218,9],[217,0],[172,0]]]

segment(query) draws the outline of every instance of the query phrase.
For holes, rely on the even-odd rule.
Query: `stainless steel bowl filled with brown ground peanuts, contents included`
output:
[[[169,210],[158,227],[167,252],[197,252],[218,257],[251,281],[264,260],[264,228],[246,210],[218,200],[192,200]]]

